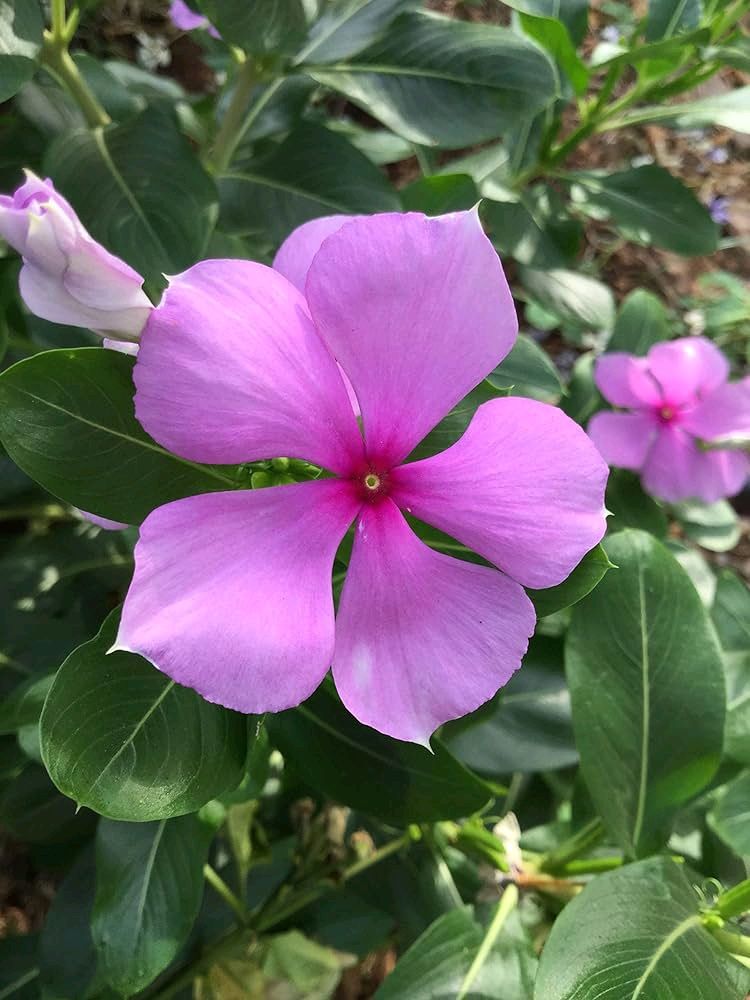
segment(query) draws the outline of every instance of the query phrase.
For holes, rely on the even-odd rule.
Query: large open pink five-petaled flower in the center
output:
[[[426,744],[520,665],[523,587],[560,583],[602,537],[607,469],[559,409],[521,398],[406,461],[516,336],[476,212],[317,220],[275,263],[203,261],[172,279],[141,340],[136,413],[192,461],[287,456],[333,475],[153,511],[115,648],[251,713],[299,704],[332,665],[360,721]],[[497,569],[433,551],[404,513]]]

